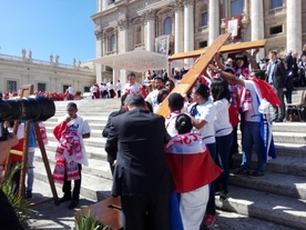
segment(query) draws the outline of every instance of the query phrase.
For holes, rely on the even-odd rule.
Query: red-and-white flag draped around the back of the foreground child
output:
[[[165,149],[176,191],[188,192],[214,181],[222,172],[197,132],[173,137]]]

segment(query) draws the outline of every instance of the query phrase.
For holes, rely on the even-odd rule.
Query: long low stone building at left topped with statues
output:
[[[23,51],[26,52],[26,51]],[[57,61],[58,60],[58,61]],[[18,91],[24,84],[33,84],[34,91],[64,92],[71,86],[75,91],[89,91],[95,83],[92,63],[73,66],[54,61],[35,60],[0,53],[0,92]]]

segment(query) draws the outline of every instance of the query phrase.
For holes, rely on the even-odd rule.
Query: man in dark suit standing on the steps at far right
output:
[[[274,108],[275,118],[273,121],[283,122],[285,118],[285,103],[283,89],[286,86],[286,69],[282,61],[277,60],[277,51],[269,51],[271,63],[267,68],[266,81],[272,86],[277,98],[280,100],[279,107]]]

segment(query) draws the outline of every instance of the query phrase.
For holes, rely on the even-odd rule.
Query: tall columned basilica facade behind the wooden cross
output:
[[[96,58],[135,49],[156,51],[163,36],[170,38],[170,54],[201,49],[225,32],[225,19],[235,12],[242,28],[241,38],[233,42],[267,40],[258,59],[272,49],[280,56],[288,50],[302,52],[306,42],[302,0],[96,0],[96,13],[91,17]],[[126,73],[96,67],[96,82],[125,82]]]

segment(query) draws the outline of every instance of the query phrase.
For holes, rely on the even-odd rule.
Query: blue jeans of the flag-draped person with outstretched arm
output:
[[[242,167],[248,171],[252,162],[252,148],[254,146],[257,154],[256,170],[264,172],[266,162],[263,157],[263,140],[259,132],[261,123],[245,121],[244,124],[244,140],[243,140],[243,162]]]

